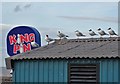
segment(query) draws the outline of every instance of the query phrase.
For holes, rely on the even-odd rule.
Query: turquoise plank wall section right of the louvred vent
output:
[[[102,60],[100,67],[101,82],[119,82],[118,60]]]

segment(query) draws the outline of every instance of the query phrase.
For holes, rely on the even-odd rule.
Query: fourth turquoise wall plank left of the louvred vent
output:
[[[54,65],[53,65],[53,60],[49,61],[49,77],[48,77],[48,82],[53,82],[53,78],[54,78]]]

